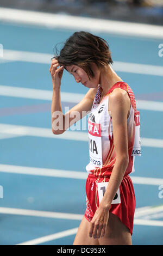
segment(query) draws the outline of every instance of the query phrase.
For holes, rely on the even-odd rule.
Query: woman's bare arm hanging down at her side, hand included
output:
[[[116,161],[104,197],[91,221],[89,235],[94,238],[102,237],[105,234],[111,202],[121,185],[129,161],[127,117],[130,111],[130,99],[125,90],[117,88],[109,95],[109,109],[112,118]]]

